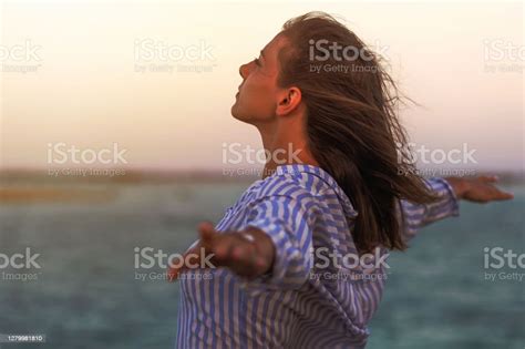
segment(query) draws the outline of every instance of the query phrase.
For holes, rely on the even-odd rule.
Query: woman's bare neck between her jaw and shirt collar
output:
[[[303,164],[319,166],[310,152],[303,132],[289,124],[257,126],[262,146],[270,155],[262,172],[262,179],[270,176],[279,165]]]

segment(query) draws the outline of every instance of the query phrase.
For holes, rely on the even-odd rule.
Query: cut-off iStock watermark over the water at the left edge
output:
[[[0,253],[0,279],[13,281],[38,280],[41,273],[30,273],[30,270],[42,268],[39,258],[40,254],[32,253],[30,247],[27,247],[23,253]]]

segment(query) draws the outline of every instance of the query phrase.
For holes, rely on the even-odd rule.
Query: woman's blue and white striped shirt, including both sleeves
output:
[[[425,224],[459,215],[450,184],[426,183],[440,195],[437,202],[398,205],[406,239]],[[272,271],[256,279],[224,267],[185,271],[177,348],[363,348],[389,252],[377,248],[358,260],[351,234],[357,215],[320,167],[280,165],[256,181],[216,229],[266,232],[276,246]]]

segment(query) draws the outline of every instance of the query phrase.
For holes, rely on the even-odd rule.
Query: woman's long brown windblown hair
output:
[[[323,12],[289,20],[280,34],[288,44],[279,52],[278,84],[301,91],[310,151],[359,213],[352,234],[357,249],[405,249],[397,201],[423,204],[435,196],[402,151],[408,137],[397,115],[401,99],[381,57]],[[316,42],[360,54],[316,52]]]

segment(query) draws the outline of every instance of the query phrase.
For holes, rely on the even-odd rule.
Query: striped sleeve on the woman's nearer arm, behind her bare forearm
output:
[[[298,289],[308,280],[317,213],[315,198],[308,194],[267,196],[250,205],[246,227],[265,232],[276,254],[268,274],[251,279],[240,277],[246,291],[255,296],[268,289]]]

